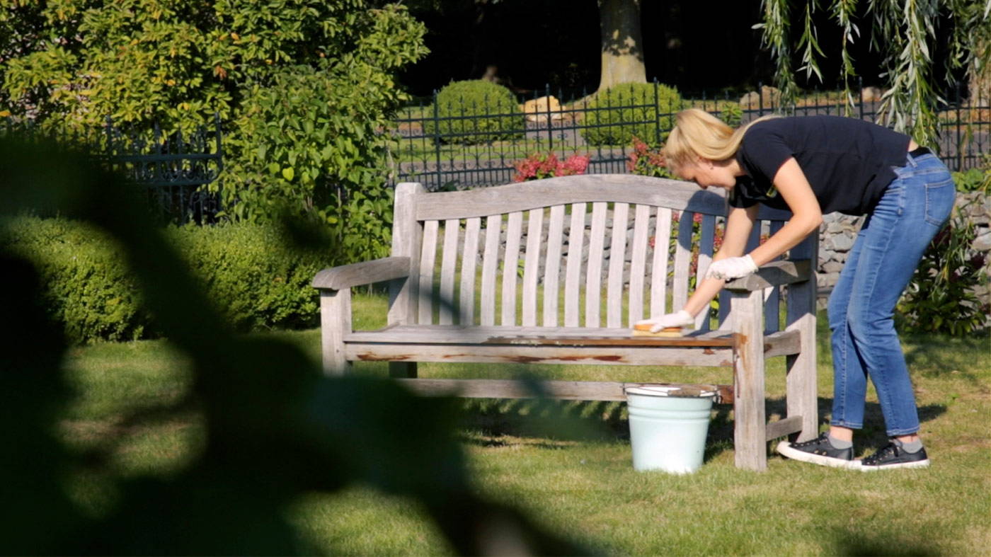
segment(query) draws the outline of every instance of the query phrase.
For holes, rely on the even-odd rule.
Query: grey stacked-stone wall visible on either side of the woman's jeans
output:
[[[956,196],[956,207],[962,208],[967,218],[977,229],[977,236],[972,244],[974,254],[984,254],[987,265],[991,265],[991,198],[986,194],[972,191],[969,193],[958,193]],[[839,278],[839,271],[846,263],[846,256],[853,247],[853,240],[856,239],[860,225],[863,224],[864,217],[852,217],[839,213],[831,213],[823,217],[823,226],[820,228],[819,244],[819,304],[826,307],[826,298],[832,291]],[[986,273],[991,268],[985,268]],[[987,279],[982,286],[978,286],[977,295],[984,302],[991,300],[988,292]]]

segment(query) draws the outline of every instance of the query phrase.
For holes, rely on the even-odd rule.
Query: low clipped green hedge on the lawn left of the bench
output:
[[[66,219],[20,217],[8,228],[16,252],[36,262],[46,310],[76,343],[154,336],[134,279],[116,245]],[[167,237],[231,328],[257,331],[317,324],[309,283],[330,261],[283,246],[273,225],[170,228]]]

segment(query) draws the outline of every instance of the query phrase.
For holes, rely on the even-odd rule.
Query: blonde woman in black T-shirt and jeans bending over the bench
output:
[[[676,313],[641,321],[652,330],[686,326],[709,307],[726,279],[757,270],[816,232],[823,214],[867,215],[828,304],[833,400],[828,431],[782,455],[858,470],[924,468],[915,395],[892,319],[895,303],[936,232],[955,189],[949,171],[908,136],[852,118],[762,118],[733,130],[690,109],[662,151],[668,167],[703,189],[728,191],[722,247],[706,278]],[[757,203],[788,209],[792,219],[745,254]],[[853,430],[863,427],[867,377],[878,393],[891,442],[853,460]]]

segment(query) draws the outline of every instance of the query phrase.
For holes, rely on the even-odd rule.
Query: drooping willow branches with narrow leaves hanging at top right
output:
[[[866,4],[863,26],[858,25],[859,15]],[[817,10],[826,9],[818,0],[799,3],[794,0],[763,0],[763,23],[755,26],[763,29],[765,46],[776,60],[775,80],[781,88],[784,100],[794,99],[797,93],[793,58],[798,54],[807,77],[815,74],[820,80],[823,73],[819,61],[826,53],[819,44],[819,31],[814,23]],[[803,7],[802,33],[793,41],[790,24],[796,8]],[[940,20],[950,22],[948,52],[942,63],[947,78],[958,68],[967,68],[972,87],[971,95],[980,94],[979,88],[988,83],[991,60],[991,0],[926,0],[898,2],[896,0],[830,0],[829,15],[842,36],[839,56],[841,77],[846,91],[848,107],[854,104],[850,90],[850,77],[857,74],[850,47],[857,41],[869,38],[870,47],[884,56],[880,77],[887,83],[882,98],[885,123],[899,131],[910,133],[924,145],[934,145],[938,119],[936,106],[943,99],[939,95],[941,85],[934,76],[933,53],[936,52],[936,31]],[[982,94],[987,98],[987,92]]]

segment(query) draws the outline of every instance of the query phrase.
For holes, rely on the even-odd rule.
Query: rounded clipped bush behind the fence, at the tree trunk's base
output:
[[[629,108],[635,106],[635,108]],[[633,137],[657,147],[657,128],[674,127],[681,95],[668,85],[620,83],[600,92],[589,103],[582,137],[589,145],[629,145]],[[661,136],[664,140],[666,134]]]

